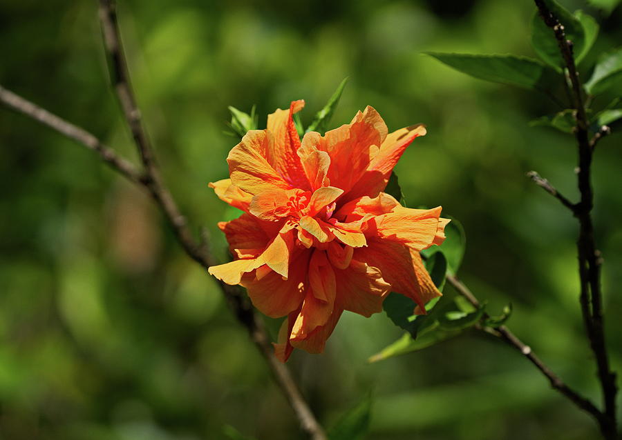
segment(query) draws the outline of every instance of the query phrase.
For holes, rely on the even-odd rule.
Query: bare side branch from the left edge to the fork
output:
[[[131,181],[141,182],[144,179],[143,174],[138,168],[131,162],[126,161],[126,159],[119,157],[117,153],[105,146],[99,139],[93,136],[93,134],[74,126],[73,123],[57,117],[55,114],[48,112],[27,99],[23,99],[2,86],[0,86],[0,102],[8,108],[26,114],[26,116],[35,119],[35,121],[42,123],[44,126],[64,134],[69,139],[82,143],[82,145],[89,150],[93,150],[99,154],[102,160],[111,166],[111,168],[117,170]]]

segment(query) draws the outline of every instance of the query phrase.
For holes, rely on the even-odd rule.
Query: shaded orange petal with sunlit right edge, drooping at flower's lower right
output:
[[[423,310],[426,302],[440,297],[441,292],[433,283],[429,285],[429,275],[426,278],[422,273],[417,274],[425,271],[417,257],[417,252],[402,243],[375,238],[368,241],[366,248],[355,249],[352,258],[379,268],[382,278],[391,285],[393,292],[413,299]]]

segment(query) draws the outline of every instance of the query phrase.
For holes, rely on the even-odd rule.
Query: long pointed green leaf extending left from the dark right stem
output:
[[[471,77],[531,90],[543,90],[543,83],[552,74],[535,59],[515,55],[424,53]]]

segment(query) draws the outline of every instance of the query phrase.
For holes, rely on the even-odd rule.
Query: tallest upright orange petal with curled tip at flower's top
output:
[[[274,136],[274,143],[267,148],[266,159],[276,172],[291,186],[309,189],[309,182],[305,178],[300,158],[297,154],[300,148],[300,138],[294,125],[292,116],[305,106],[305,101],[292,101],[288,110],[281,110],[269,114],[267,130]]]

